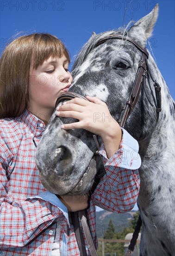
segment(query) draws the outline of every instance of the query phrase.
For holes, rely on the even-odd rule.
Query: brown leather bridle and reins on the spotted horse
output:
[[[129,41],[135,47],[137,47],[137,49],[142,53],[142,57],[141,57],[141,60],[138,64],[137,74],[136,74],[136,77],[135,77],[135,81],[133,83],[133,87],[132,87],[130,97],[129,97],[128,101],[126,101],[125,107],[122,109],[119,120],[118,120],[120,127],[124,127],[126,120],[131,115],[131,112],[133,111],[133,109],[136,106],[136,103],[137,103],[137,100],[138,100],[138,97],[139,97],[142,86],[144,86],[144,88],[145,88],[146,78],[147,78],[147,74],[148,74],[148,71],[149,71],[149,68],[148,68],[149,54],[148,54],[146,48],[141,47],[139,44],[137,44],[137,42],[132,40],[130,37],[121,36],[121,35],[111,35],[111,36],[108,36],[106,38],[103,38],[95,44],[95,47],[98,47],[99,45],[105,43],[106,40],[109,40],[109,39],[120,39],[120,40],[124,40],[124,41]],[[156,115],[157,115],[157,121],[158,121],[159,112],[161,111],[161,87],[156,81],[154,81],[150,71],[149,71],[149,74],[150,74],[151,80],[154,82],[154,88],[155,88],[155,93],[156,93]],[[145,92],[145,94],[146,94],[146,92]],[[66,92],[66,93],[63,93],[56,100],[56,106],[58,105],[58,103],[60,101],[71,100],[71,99],[74,99],[76,97],[88,101],[88,99],[86,99],[85,97],[83,97],[79,94],[75,94],[75,93],[72,93],[72,92]],[[147,94],[146,94],[146,97],[147,97]],[[147,97],[147,99],[148,99],[148,97]],[[148,101],[149,101],[149,99],[148,99]],[[152,104],[151,104],[151,106],[152,106]],[[94,192],[94,190],[96,189],[98,183],[100,182],[100,178],[103,175],[105,175],[105,173],[106,173],[104,165],[103,164],[102,164],[102,166],[99,165],[99,161],[101,161],[102,163],[103,163],[103,161],[102,161],[101,156],[99,154],[100,144],[99,144],[97,135],[93,135],[93,138],[94,138],[95,144],[97,146],[97,151],[95,152],[93,157],[96,160],[96,166],[99,166],[99,168],[97,169],[97,173],[96,173],[95,178],[94,178],[94,184],[93,184],[92,189],[91,189],[90,197],[91,197],[92,193]],[[90,198],[89,198],[89,200],[90,200]],[[74,225],[74,229],[75,229],[75,236],[76,236],[76,239],[77,239],[78,247],[79,247],[80,252],[81,252],[81,256],[87,256],[87,252],[86,252],[86,247],[85,247],[84,240],[83,240],[82,233],[81,233],[79,218],[81,220],[82,229],[84,230],[84,234],[85,234],[85,237],[86,237],[86,240],[87,240],[87,243],[88,243],[88,248],[90,250],[90,253],[91,253],[92,256],[97,256],[97,252],[96,252],[96,249],[94,247],[94,243],[93,243],[90,231],[89,231],[85,210],[81,210],[81,211],[78,211],[78,212],[72,212],[71,216],[72,216],[72,221],[73,221],[73,225]],[[141,225],[142,225],[142,220],[141,220],[141,217],[139,216],[139,219],[137,221],[137,226],[136,226],[137,228],[135,229],[135,231],[133,233],[131,243],[130,243],[130,245],[128,247],[128,251],[126,253],[127,256],[130,256],[132,254],[133,250],[134,250]]]

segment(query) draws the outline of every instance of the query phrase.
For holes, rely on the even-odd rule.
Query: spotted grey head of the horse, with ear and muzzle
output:
[[[143,53],[129,40],[101,40],[116,34],[126,35],[144,48],[152,33],[157,13],[158,6],[138,20],[129,31],[120,29],[93,34],[75,61],[72,71],[74,82],[69,92],[98,97],[106,102],[111,115],[118,120],[131,94]],[[149,66],[150,72],[153,68],[157,69],[150,56]],[[156,96],[150,78],[155,74],[150,72],[147,74],[148,79],[141,89],[136,107],[125,125],[137,140],[144,139],[155,128],[157,121]],[[94,121],[98,117],[94,109]],[[71,118],[57,117],[54,111],[36,153],[42,183],[47,189],[59,195],[87,193],[96,174],[93,159],[96,145],[93,135],[82,129],[61,128],[63,123],[73,121],[75,120]]]

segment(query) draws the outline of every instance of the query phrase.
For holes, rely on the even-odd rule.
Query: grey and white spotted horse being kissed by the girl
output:
[[[72,94],[105,101],[113,119],[118,121],[125,102],[131,105],[127,100],[131,98],[138,67],[146,62],[142,86],[137,88],[139,94],[134,95],[137,103],[125,118],[125,129],[138,141],[142,159],[137,199],[143,222],[141,256],[175,253],[175,102],[153,57],[150,53],[148,57],[144,50],[157,16],[158,5],[129,30],[93,33],[77,55],[69,88]],[[147,55],[144,61],[143,55]],[[94,110],[94,121],[97,114]],[[36,152],[42,183],[59,195],[86,194],[96,174],[93,135],[83,129],[61,129],[63,123],[73,121],[57,117],[55,110]]]

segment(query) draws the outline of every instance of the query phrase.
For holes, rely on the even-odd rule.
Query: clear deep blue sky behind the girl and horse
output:
[[[93,31],[126,26],[148,14],[156,3],[159,17],[150,45],[175,99],[174,0],[1,0],[0,52],[16,34],[45,32],[62,39],[73,60]]]

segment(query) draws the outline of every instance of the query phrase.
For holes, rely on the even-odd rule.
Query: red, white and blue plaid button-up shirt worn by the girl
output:
[[[51,256],[57,222],[61,226],[60,248],[65,236],[67,256],[80,256],[71,219],[58,207],[59,199],[40,182],[35,144],[38,145],[44,129],[44,122],[27,110],[17,118],[0,119],[0,255]],[[124,142],[123,138],[121,148],[109,160],[103,145],[100,148],[106,175],[101,178],[87,213],[96,248],[95,205],[124,213],[137,200],[140,158],[135,161],[131,154],[124,157]],[[126,166],[128,162],[128,168],[123,168],[122,161]],[[85,245],[90,255],[86,241]]]

